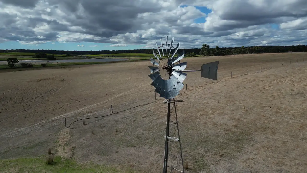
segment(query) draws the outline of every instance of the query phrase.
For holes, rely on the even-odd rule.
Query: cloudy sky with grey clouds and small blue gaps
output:
[[[306,0],[0,0],[0,49],[306,45]]]

